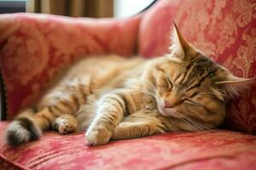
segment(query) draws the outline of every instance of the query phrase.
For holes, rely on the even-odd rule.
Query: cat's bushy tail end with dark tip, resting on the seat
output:
[[[34,114],[33,109],[26,109],[9,124],[6,131],[6,140],[9,145],[17,146],[40,138],[42,130],[32,121]]]

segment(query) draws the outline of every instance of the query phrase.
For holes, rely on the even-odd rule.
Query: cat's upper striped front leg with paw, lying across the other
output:
[[[90,145],[107,144],[114,128],[125,112],[125,101],[119,94],[106,94],[98,103],[96,117],[90,124],[85,137]]]

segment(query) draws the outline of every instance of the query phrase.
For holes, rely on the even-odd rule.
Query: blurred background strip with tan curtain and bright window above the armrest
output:
[[[0,14],[42,13],[73,17],[125,18],[149,8],[156,0],[0,0]]]

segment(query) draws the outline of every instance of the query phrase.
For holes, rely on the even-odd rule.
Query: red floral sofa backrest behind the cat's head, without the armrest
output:
[[[256,77],[256,2],[160,0],[143,14],[139,53],[169,54],[174,20],[189,42],[238,77]],[[230,103],[225,127],[256,134],[256,88]]]

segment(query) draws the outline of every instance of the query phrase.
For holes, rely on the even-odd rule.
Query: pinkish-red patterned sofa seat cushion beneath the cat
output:
[[[0,133],[9,122],[0,122]],[[0,167],[21,169],[256,169],[256,136],[224,130],[166,133],[86,144],[84,133],[45,133],[10,148],[0,137]],[[6,168],[9,169],[9,168]]]

